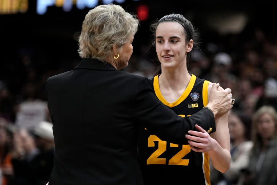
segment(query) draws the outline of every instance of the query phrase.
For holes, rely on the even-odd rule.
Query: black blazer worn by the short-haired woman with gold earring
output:
[[[143,184],[139,126],[176,144],[187,143],[195,124],[215,130],[210,110],[180,117],[156,98],[146,77],[94,59],[47,79],[46,92],[55,140],[49,185]]]

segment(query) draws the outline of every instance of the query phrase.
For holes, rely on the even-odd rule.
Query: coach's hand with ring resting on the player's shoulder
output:
[[[226,113],[233,107],[232,93],[230,88],[223,89],[219,84],[213,84],[210,91],[209,102],[206,107],[209,107],[215,116]]]

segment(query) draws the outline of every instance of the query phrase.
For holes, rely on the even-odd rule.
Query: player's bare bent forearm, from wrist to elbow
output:
[[[208,151],[212,165],[216,170],[224,173],[231,165],[231,154],[227,149],[222,148],[218,143],[213,150]]]

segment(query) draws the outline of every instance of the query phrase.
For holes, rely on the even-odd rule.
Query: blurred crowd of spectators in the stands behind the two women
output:
[[[124,70],[151,78],[159,65],[155,50],[139,47]],[[218,35],[201,48],[192,52],[190,74],[231,88],[236,100],[228,116],[231,168],[221,174],[211,166],[212,185],[276,185],[277,37],[257,28]],[[54,137],[44,83],[80,61],[54,64],[34,51],[0,64],[0,185],[48,182]]]

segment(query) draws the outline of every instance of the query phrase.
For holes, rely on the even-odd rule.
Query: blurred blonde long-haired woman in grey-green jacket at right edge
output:
[[[244,185],[274,185],[277,173],[277,113],[271,106],[262,106],[253,116],[254,142],[248,167],[243,170]]]

